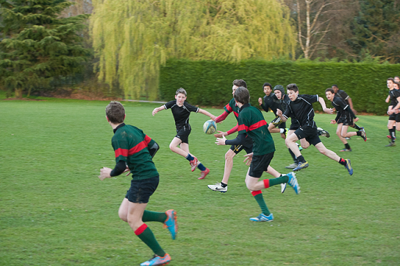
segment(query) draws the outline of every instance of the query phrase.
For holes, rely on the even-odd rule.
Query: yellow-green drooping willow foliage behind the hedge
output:
[[[290,57],[289,10],[278,0],[93,0],[90,18],[99,78],[126,98],[157,98],[170,57],[224,60]]]

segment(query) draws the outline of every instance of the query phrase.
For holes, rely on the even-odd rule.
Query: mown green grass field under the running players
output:
[[[151,250],[119,220],[119,204],[130,177],[100,181],[103,166],[115,165],[104,109],[108,102],[83,100],[0,101],[0,265],[139,265]],[[208,120],[192,114],[190,150],[211,172],[198,180],[188,161],[172,153],[171,112],[151,116],[159,104],[124,103],[126,123],[160,144],[154,161],[160,186],[151,211],[176,209],[179,233],[171,240],[162,224],[149,222],[170,265],[400,265],[400,147],[387,148],[386,116],[360,116],[368,141],[352,137],[353,176],[314,147],[298,172],[301,194],[280,186],[263,190],[275,220],[250,222],[260,209],[244,184],[244,154],[234,159],[227,193],[207,184],[221,181],[228,146],[203,134]],[[221,114],[222,109],[207,109]],[[272,113],[265,114],[267,121]],[[343,148],[335,116],[317,114],[331,132],[327,148]],[[229,116],[218,125],[235,125]],[[399,134],[400,136],[400,134]],[[233,139],[230,136],[228,139]],[[292,163],[283,139],[274,134],[272,166]],[[269,178],[269,175],[263,175]]]

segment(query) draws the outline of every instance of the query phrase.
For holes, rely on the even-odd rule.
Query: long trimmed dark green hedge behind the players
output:
[[[358,112],[385,114],[386,79],[394,76],[400,76],[400,64],[168,60],[160,69],[160,99],[173,100],[176,89],[183,87],[192,105],[226,105],[232,98],[232,81],[242,78],[247,82],[251,104],[258,105],[258,98],[264,96],[264,82],[272,86],[296,83],[300,94],[319,96],[335,84],[349,94]],[[325,96],[324,100],[331,107]],[[315,104],[315,109],[321,110],[321,106]]]

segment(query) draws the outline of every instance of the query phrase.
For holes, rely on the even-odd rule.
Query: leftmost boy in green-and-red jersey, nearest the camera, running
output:
[[[112,101],[106,107],[106,118],[113,127],[114,136],[111,141],[115,150],[116,165],[114,169],[101,168],[99,179],[121,175],[130,170],[132,174],[131,188],[121,206],[118,215],[153,252],[150,260],[140,265],[165,265],[171,260],[171,256],[160,247],[153,232],[144,222],[163,222],[169,229],[174,240],[178,233],[176,224],[176,211],[168,210],[165,213],[146,211],[149,198],[153,195],[160,179],[152,157],[158,150],[156,141],[144,134],[138,127],[125,125],[125,109],[121,103]]]

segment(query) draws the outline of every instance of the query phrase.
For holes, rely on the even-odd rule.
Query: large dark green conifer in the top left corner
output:
[[[0,82],[15,96],[81,71],[90,50],[78,34],[88,15],[59,17],[67,0],[0,0]]]

